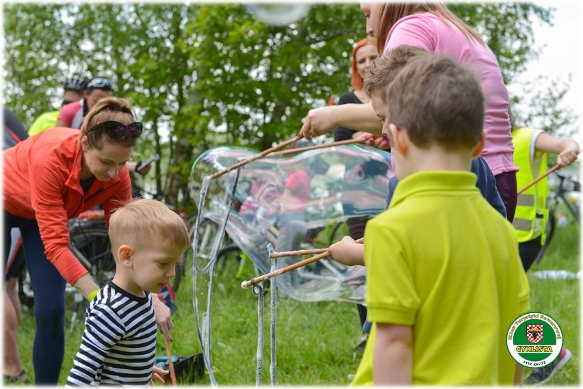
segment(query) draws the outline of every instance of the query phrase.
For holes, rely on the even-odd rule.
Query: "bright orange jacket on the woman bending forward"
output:
[[[87,270],[69,250],[68,219],[103,204],[105,219],[131,200],[127,167],[105,182],[94,180],[83,194],[79,130],[55,127],[3,151],[4,209],[36,219],[44,254],[69,283]]]

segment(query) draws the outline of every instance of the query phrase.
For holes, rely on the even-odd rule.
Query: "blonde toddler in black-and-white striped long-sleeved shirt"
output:
[[[113,280],[96,294],[67,386],[147,386],[155,371],[156,321],[151,293],[174,277],[190,245],[183,219],[156,200],[135,200],[109,220]],[[167,372],[166,372],[167,373]]]

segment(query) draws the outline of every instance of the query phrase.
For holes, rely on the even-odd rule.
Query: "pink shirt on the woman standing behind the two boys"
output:
[[[494,175],[516,172],[508,116],[508,90],[494,53],[479,42],[469,42],[456,27],[448,26],[430,12],[401,18],[387,36],[384,54],[400,44],[420,46],[429,53],[452,57],[478,70],[487,99],[484,116],[486,145],[482,157]]]

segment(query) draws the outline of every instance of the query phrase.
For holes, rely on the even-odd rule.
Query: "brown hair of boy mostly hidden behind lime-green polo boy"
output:
[[[379,94],[383,103],[387,103],[387,86],[393,81],[399,70],[411,59],[426,55],[427,51],[419,46],[400,44],[389,51],[386,56],[379,55],[374,59],[364,79],[364,90],[367,96]]]

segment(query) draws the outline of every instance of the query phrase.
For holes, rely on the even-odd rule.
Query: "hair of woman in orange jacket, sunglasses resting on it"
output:
[[[135,114],[129,102],[125,98],[105,97],[99,100],[93,108],[87,113],[83,124],[81,124],[81,135],[79,136],[79,143],[83,135],[87,136],[89,144],[99,150],[103,147],[103,139],[111,143],[120,144],[122,146],[133,147],[137,138],[132,138],[127,131],[119,138],[113,138],[107,134],[105,129],[96,129],[88,132],[97,124],[114,120],[121,124],[130,124],[135,121]]]

